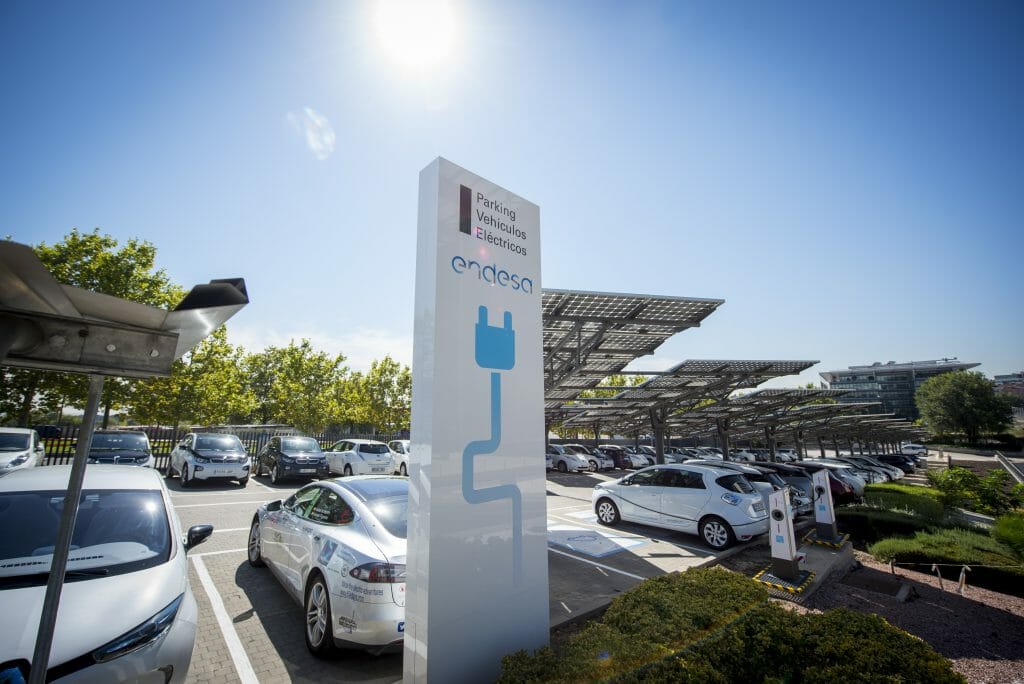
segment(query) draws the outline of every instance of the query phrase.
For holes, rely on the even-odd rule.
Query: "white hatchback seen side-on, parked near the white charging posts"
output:
[[[728,468],[651,466],[596,485],[591,501],[602,524],[626,520],[698,535],[716,550],[768,531],[761,495]]]

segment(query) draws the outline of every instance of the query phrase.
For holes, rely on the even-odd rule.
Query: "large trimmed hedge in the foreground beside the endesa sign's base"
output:
[[[879,648],[885,644],[885,648]],[[559,650],[518,651],[500,682],[964,682],[948,660],[876,615],[801,615],[721,568],[648,580]]]

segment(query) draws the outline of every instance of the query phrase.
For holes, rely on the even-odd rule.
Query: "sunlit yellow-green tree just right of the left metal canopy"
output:
[[[243,374],[243,350],[221,326],[174,361],[171,376],[135,384],[131,416],[138,423],[216,425],[248,415],[252,395]]]

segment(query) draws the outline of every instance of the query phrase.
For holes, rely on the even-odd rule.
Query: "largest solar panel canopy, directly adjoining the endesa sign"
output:
[[[700,323],[722,299],[545,290],[545,408],[558,409],[670,337]]]

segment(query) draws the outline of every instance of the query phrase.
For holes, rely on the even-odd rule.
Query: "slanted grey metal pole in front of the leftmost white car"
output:
[[[71,467],[68,494],[65,495],[63,510],[60,514],[60,528],[57,530],[57,540],[53,547],[50,576],[46,581],[46,595],[43,597],[43,610],[39,616],[39,631],[36,633],[36,650],[32,654],[29,684],[46,682],[50,647],[53,644],[53,629],[56,626],[57,607],[60,604],[60,589],[63,587],[65,572],[68,569],[71,538],[75,532],[75,518],[78,516],[82,482],[85,480],[85,461],[89,453],[89,443],[92,441],[92,426],[96,422],[96,411],[99,409],[99,397],[102,392],[103,376],[89,376],[89,395],[85,402],[85,415],[82,416],[82,427],[78,432],[75,461]]]

